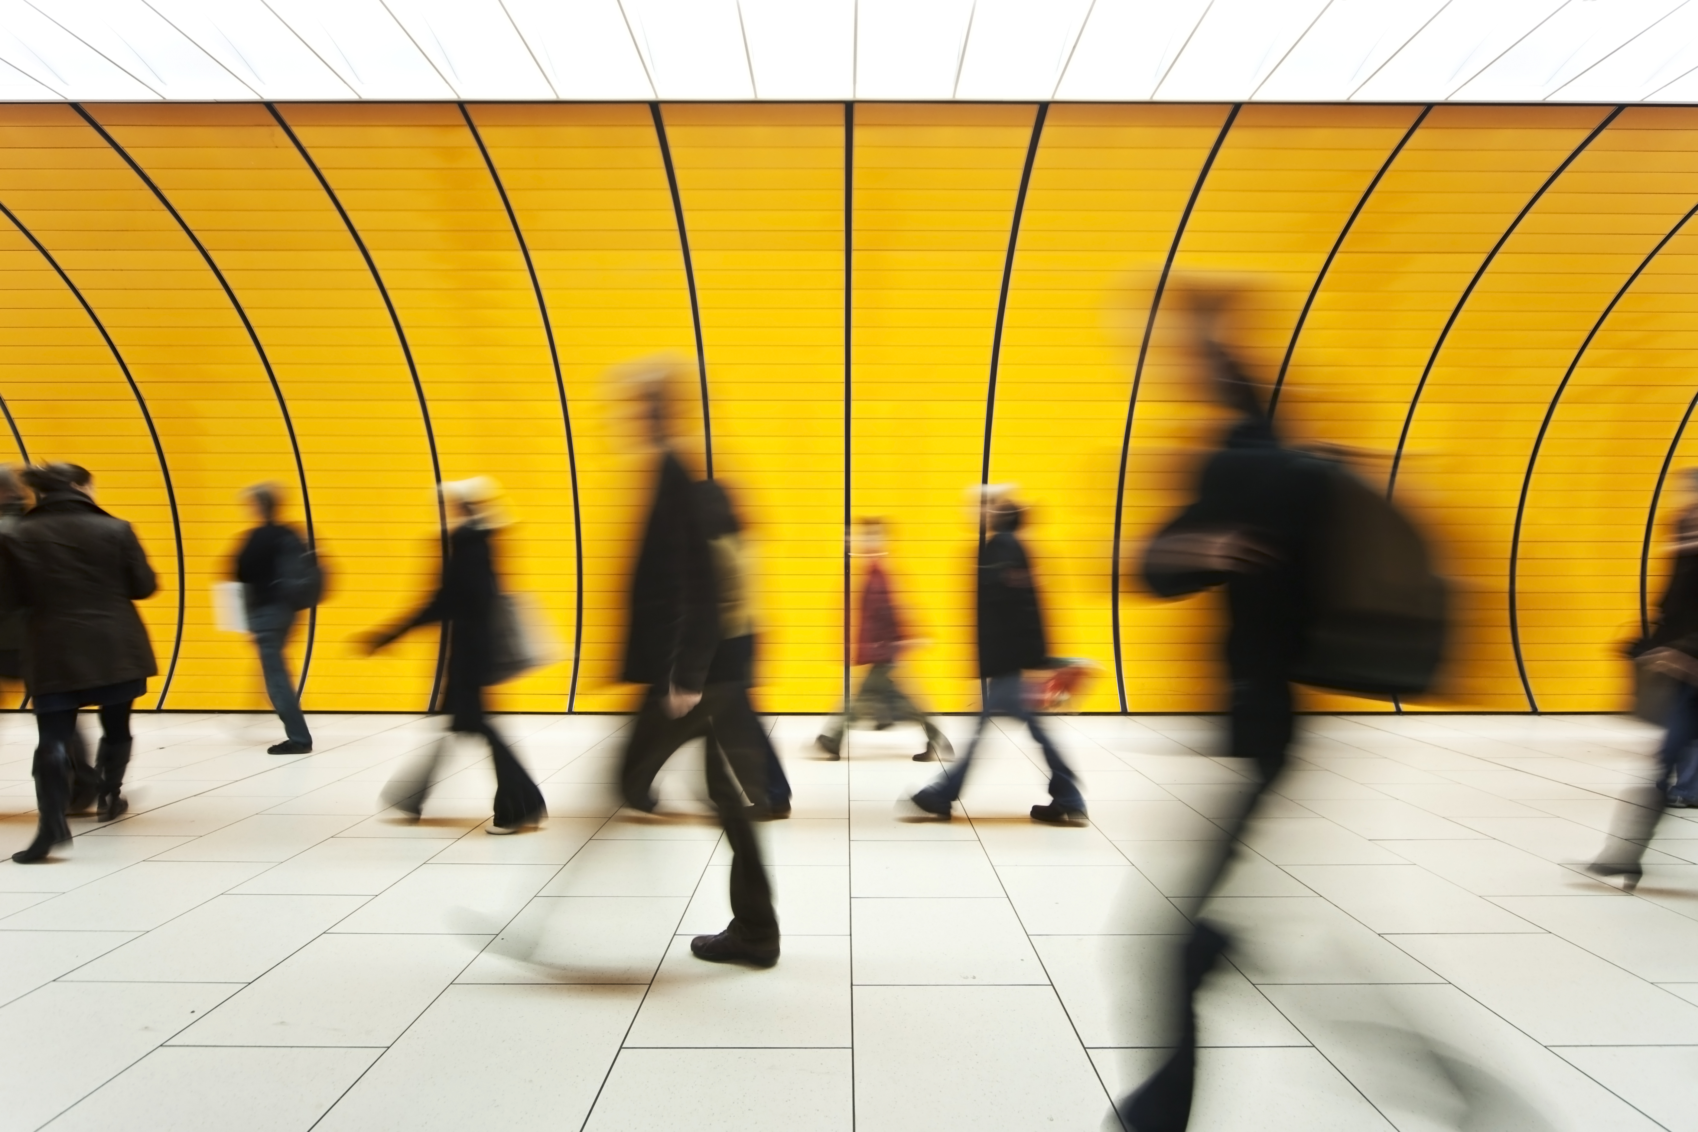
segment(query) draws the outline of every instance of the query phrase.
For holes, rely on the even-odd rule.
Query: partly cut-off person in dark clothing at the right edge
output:
[[[1698,468],[1688,468],[1684,479],[1695,502],[1676,521],[1674,562],[1657,623],[1628,650],[1642,669],[1673,684],[1657,781],[1622,794],[1610,842],[1586,866],[1593,876],[1620,879],[1627,889],[1639,886],[1645,845],[1664,806],[1698,806]]]

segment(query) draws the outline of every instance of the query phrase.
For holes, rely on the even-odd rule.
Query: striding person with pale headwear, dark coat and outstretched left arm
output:
[[[548,810],[542,791],[501,738],[484,711],[484,689],[511,677],[498,662],[511,631],[511,618],[503,616],[501,584],[496,575],[494,533],[509,523],[499,506],[501,485],[487,477],[441,484],[441,494],[453,502],[462,523],[448,535],[448,560],[443,563],[436,594],[401,625],[365,638],[367,652],[377,652],[408,630],[441,623],[448,638],[448,687],[441,706],[448,713],[450,735],[482,735],[496,765],[494,820],[489,833],[518,833],[537,828]],[[436,752],[423,774],[404,774],[389,784],[384,799],[397,810],[418,816],[431,787]]]

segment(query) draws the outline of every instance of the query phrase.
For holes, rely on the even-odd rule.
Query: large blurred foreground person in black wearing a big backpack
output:
[[[1285,767],[1292,684],[1372,696],[1426,691],[1443,645],[1445,589],[1425,543],[1391,502],[1341,463],[1287,448],[1255,380],[1217,336],[1219,305],[1199,304],[1199,353],[1214,395],[1238,414],[1204,463],[1197,497],[1144,550],[1161,597],[1224,587],[1228,754],[1260,782],[1224,827],[1199,891],[1219,886],[1231,845]],[[1180,1132],[1197,1071],[1194,998],[1228,937],[1197,920],[1184,945],[1182,1030],[1156,1073],[1116,1103],[1127,1132]]]

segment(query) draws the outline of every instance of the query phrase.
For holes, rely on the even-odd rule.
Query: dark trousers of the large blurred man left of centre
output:
[[[749,703],[749,686],[739,682],[708,684],[701,703],[678,720],[666,711],[666,689],[650,689],[637,711],[630,743],[620,769],[625,801],[635,810],[654,810],[650,784],[672,754],[689,740],[706,740],[703,774],[708,799],[718,813],[720,828],[732,850],[732,923],[730,928],[751,944],[778,940],[778,911],[773,886],[766,879],[761,842],[744,806],[769,798],[767,762],[771,740],[761,716]],[[790,796],[788,786],[784,796]]]

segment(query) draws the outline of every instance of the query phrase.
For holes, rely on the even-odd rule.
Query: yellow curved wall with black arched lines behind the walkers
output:
[[[988,480],[1034,504],[1053,652],[1107,669],[1082,706],[1214,708],[1217,601],[1114,569],[1116,526],[1131,560],[1219,426],[1165,268],[1245,282],[1240,345],[1284,368],[1292,436],[1380,484],[1396,462],[1457,582],[1442,706],[1616,709],[1698,458],[1691,109],[83,110],[0,107],[0,460],[87,463],[136,523],[149,706],[263,706],[209,592],[268,479],[331,567],[307,706],[424,708],[435,633],[351,638],[428,589],[435,479],[489,474],[509,587],[577,642],[501,706],[625,708],[649,468],[606,372],[700,346],[683,448],[747,513],[762,706],[834,706],[844,519],[880,514],[929,642],[912,677],[971,708]]]

